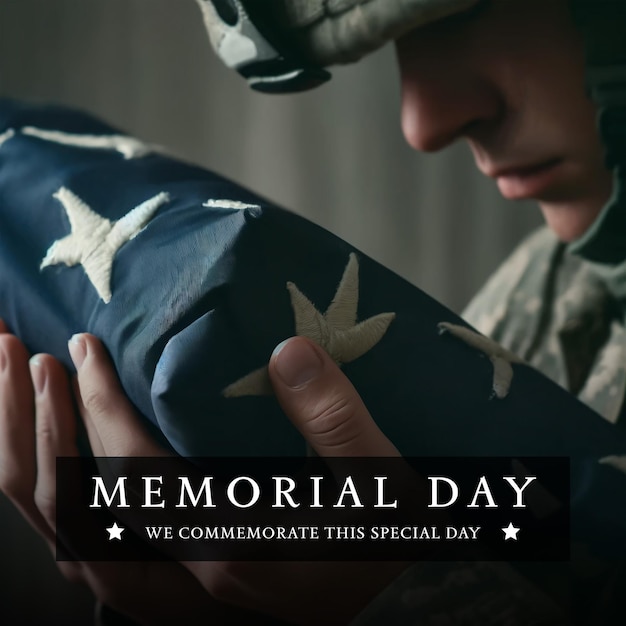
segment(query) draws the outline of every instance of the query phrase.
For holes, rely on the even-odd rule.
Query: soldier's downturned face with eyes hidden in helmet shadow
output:
[[[567,0],[493,0],[396,47],[411,146],[466,139],[505,197],[538,200],[563,240],[582,235],[612,185]]]

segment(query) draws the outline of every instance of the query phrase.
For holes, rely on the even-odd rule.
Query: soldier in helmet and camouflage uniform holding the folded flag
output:
[[[289,71],[271,76],[264,74],[268,59],[242,63],[241,55],[233,52],[246,49],[235,45],[237,37],[241,44],[253,25],[232,27],[228,9],[238,10],[238,3],[214,4],[216,8],[203,4],[213,43],[254,86],[270,90],[281,77],[306,83],[322,76],[308,67],[284,67]],[[495,179],[504,196],[539,202],[547,229],[513,254],[470,305],[466,318],[606,419],[618,422],[626,383],[626,225],[620,178],[625,154],[623,123],[620,127],[624,3],[319,4],[330,14],[310,23],[304,18],[317,14],[300,11],[300,3],[286,3],[278,10],[282,24],[295,22],[289,38],[301,54],[327,64],[352,60],[395,39],[407,141],[416,149],[435,151],[464,139],[477,167]],[[585,93],[585,69],[592,100]],[[55,456],[73,452],[68,449],[72,437],[67,435],[74,427],[67,377],[58,362],[44,355],[31,359],[29,370],[25,349],[9,334],[2,335],[0,348],[0,418],[3,431],[12,433],[7,441],[13,443],[5,444],[0,455],[0,484],[53,542],[55,487],[46,477],[54,475]],[[97,339],[76,336],[70,353],[78,371],[79,410],[94,451],[122,456],[157,452]],[[311,342],[295,338],[281,344],[272,357],[270,376],[285,413],[321,456],[397,454],[349,381]],[[32,424],[21,420],[19,426],[9,427],[17,422],[12,416],[32,413],[31,406],[37,421],[36,451]],[[380,564],[62,567],[68,576],[87,582],[99,598],[142,623],[211,617],[217,623],[260,622],[247,610],[298,624],[608,623],[618,599],[616,587],[623,581],[621,565],[585,570],[581,610],[570,615],[563,594],[550,597],[505,564],[418,563],[401,575],[396,566]],[[138,571],[143,575],[137,576]],[[242,612],[231,612],[212,598],[242,607]]]

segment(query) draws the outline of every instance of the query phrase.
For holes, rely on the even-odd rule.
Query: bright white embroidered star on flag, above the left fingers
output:
[[[157,194],[116,222],[92,211],[65,187],[61,187],[54,197],[67,213],[71,233],[50,246],[40,269],[61,263],[68,267],[82,265],[100,298],[105,304],[110,302],[115,254],[126,242],[137,236],[157,209],[169,201],[169,195],[164,192]]]

